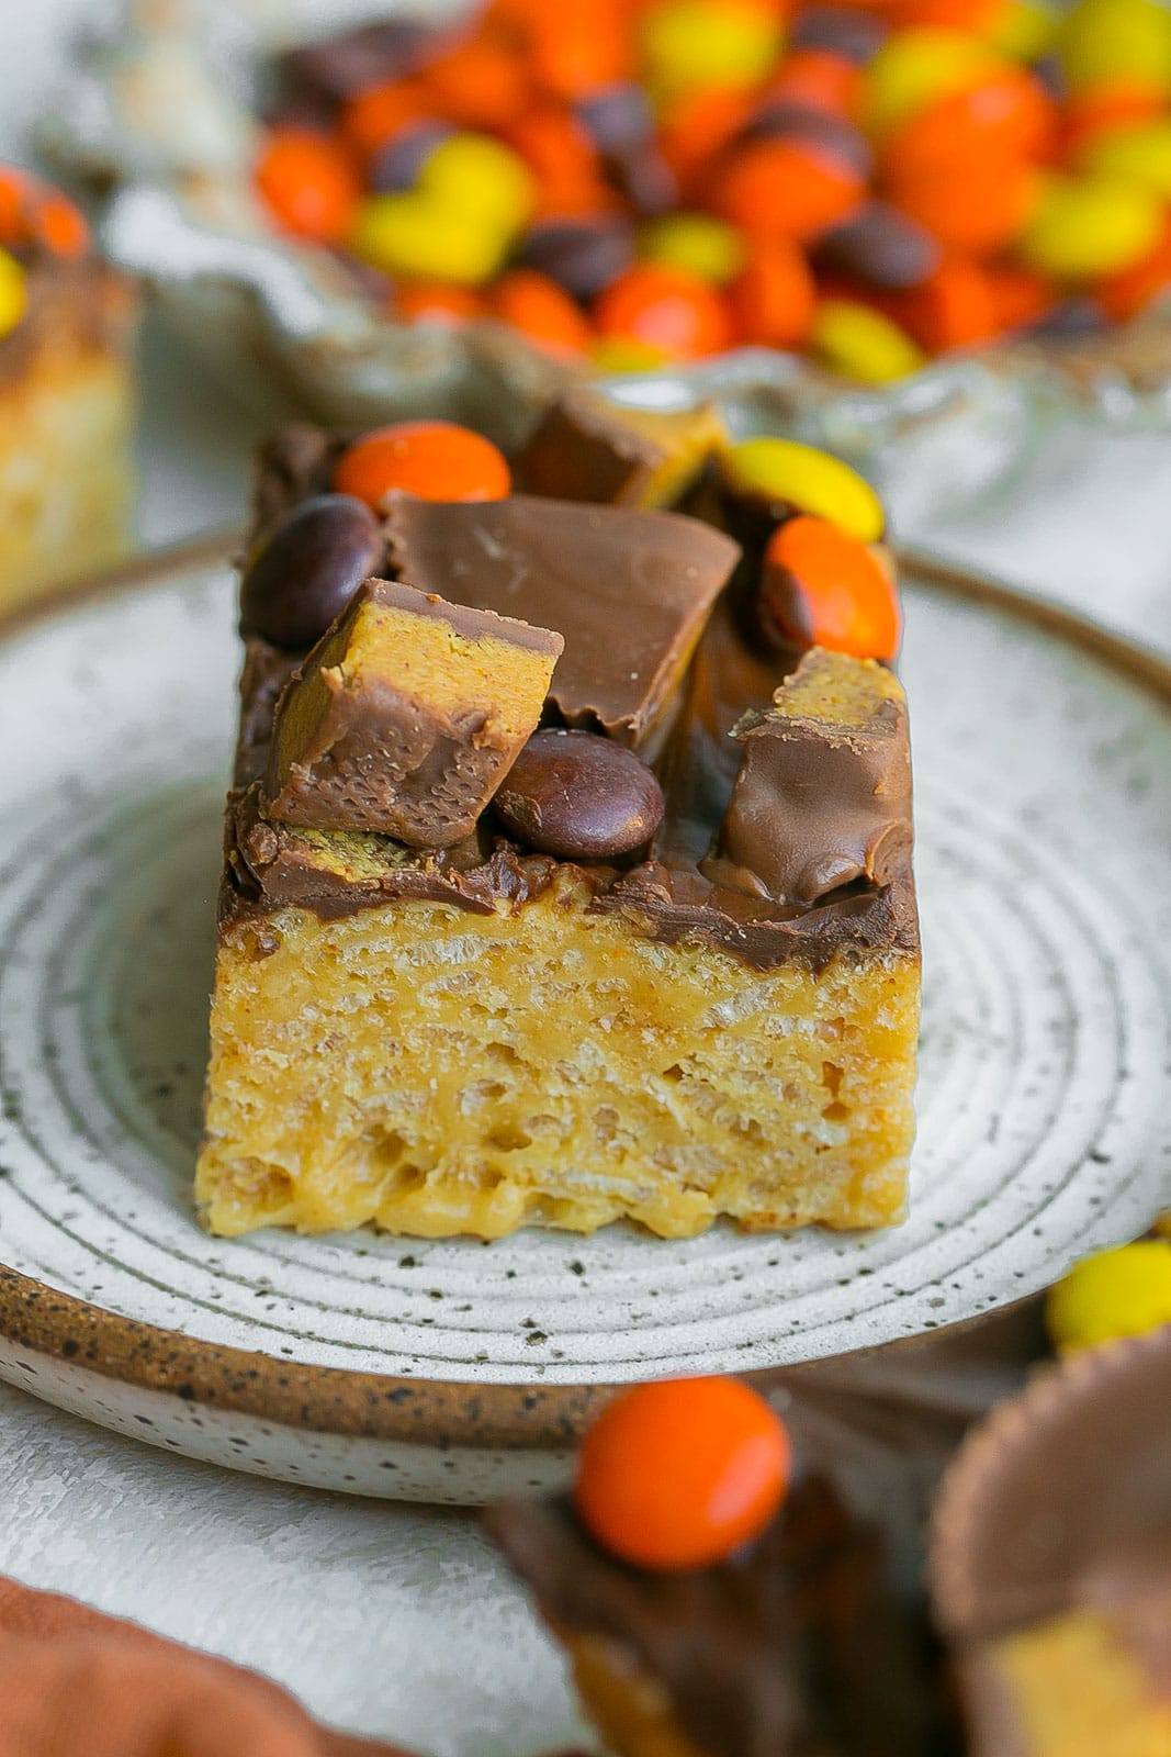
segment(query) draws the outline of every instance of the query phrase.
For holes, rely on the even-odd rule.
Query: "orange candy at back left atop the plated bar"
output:
[[[455,422],[397,422],[363,434],[337,460],[334,487],[376,511],[392,488],[421,501],[502,501],[513,488],[504,453]]]

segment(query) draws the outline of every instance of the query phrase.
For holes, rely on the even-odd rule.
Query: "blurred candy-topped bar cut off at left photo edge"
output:
[[[126,550],[132,318],[79,209],[0,165],[0,615]]]

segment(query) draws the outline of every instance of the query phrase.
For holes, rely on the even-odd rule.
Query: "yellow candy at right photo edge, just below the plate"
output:
[[[1171,1239],[1087,1256],[1050,1288],[1045,1318],[1057,1348],[1090,1348],[1171,1323]]]

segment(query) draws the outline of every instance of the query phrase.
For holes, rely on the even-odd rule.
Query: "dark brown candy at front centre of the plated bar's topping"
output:
[[[632,750],[593,733],[534,733],[495,796],[509,835],[565,861],[632,854],[655,835],[664,796]]]

